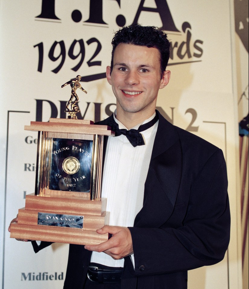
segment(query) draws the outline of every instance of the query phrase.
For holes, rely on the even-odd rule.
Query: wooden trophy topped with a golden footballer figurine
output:
[[[67,119],[31,121],[24,127],[38,131],[35,192],[26,195],[18,222],[11,224],[11,238],[81,245],[108,240],[108,234],[96,230],[110,219],[107,199],[101,198],[103,139],[115,134],[106,125],[77,118],[76,90],[87,93],[80,79],[62,85],[72,89]]]

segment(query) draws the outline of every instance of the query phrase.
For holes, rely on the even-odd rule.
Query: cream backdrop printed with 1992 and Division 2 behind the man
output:
[[[61,85],[77,74],[88,91],[78,93],[82,117],[110,115],[115,98],[104,76],[110,42],[114,31],[133,22],[163,27],[172,41],[171,81],[159,92],[160,112],[219,146],[227,161],[228,254],[189,272],[189,288],[241,288],[233,17],[229,0],[0,0],[2,288],[63,287],[68,245],[34,254],[30,243],[10,239],[7,231],[25,194],[34,192],[37,134],[24,125],[65,117],[70,88]]]

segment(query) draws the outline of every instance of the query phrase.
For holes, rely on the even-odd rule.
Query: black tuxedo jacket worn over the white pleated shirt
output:
[[[143,207],[129,229],[135,270],[125,257],[122,289],[187,288],[187,270],[221,261],[230,237],[222,151],[159,115]],[[83,288],[90,258],[84,246],[69,246],[64,289]]]

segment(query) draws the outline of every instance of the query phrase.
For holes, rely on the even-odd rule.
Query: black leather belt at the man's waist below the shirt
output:
[[[120,283],[123,270],[99,269],[97,266],[89,266],[87,277],[98,283]]]

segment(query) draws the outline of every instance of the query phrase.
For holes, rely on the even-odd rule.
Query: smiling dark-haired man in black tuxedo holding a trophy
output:
[[[117,135],[106,143],[102,184],[111,226],[97,230],[112,237],[70,245],[64,288],[187,288],[187,270],[221,261],[228,247],[225,160],[155,111],[170,80],[166,34],[136,24],[112,44],[107,81],[117,110],[99,123]],[[33,242],[36,252],[47,245]]]

